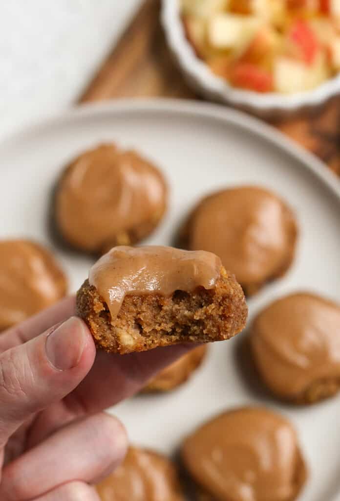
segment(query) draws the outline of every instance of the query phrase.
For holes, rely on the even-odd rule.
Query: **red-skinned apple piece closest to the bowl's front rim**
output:
[[[256,92],[270,92],[273,89],[271,73],[249,63],[236,63],[233,66],[230,70],[230,83]]]

